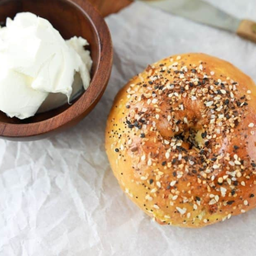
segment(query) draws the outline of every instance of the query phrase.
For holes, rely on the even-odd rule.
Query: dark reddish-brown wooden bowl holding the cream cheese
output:
[[[108,27],[87,0],[0,0],[0,22],[18,12],[30,11],[49,20],[64,39],[82,36],[90,43],[92,81],[71,105],[19,120],[0,111],[0,137],[35,140],[47,137],[82,120],[101,98],[110,76],[113,48]]]

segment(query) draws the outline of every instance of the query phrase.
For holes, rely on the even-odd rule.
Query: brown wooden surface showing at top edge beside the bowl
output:
[[[120,11],[122,8],[128,6],[130,0],[89,0],[101,13],[103,17],[111,13]]]

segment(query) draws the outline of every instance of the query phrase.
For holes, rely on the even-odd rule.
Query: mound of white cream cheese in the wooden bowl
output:
[[[57,107],[64,103],[60,94],[70,98],[75,75],[75,91],[82,84],[87,89],[92,66],[87,44],[81,37],[65,41],[49,21],[29,12],[7,18],[0,29],[0,110],[24,119],[46,98],[46,110]]]

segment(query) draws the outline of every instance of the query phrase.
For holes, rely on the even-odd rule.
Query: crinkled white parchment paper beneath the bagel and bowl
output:
[[[255,19],[254,0],[209,0]],[[35,142],[0,140],[0,256],[255,256],[256,210],[203,229],[159,226],[121,191],[104,129],[117,91],[147,64],[204,52],[256,81],[256,44],[135,3],[106,19],[114,67],[103,98],[75,128]]]

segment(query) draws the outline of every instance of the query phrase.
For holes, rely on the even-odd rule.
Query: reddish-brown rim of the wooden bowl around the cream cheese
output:
[[[113,44],[105,20],[88,0],[61,1],[67,2],[79,9],[87,17],[97,36],[99,55],[90,86],[76,102],[60,114],[49,119],[27,124],[10,124],[0,121],[0,137],[32,137],[59,130],[63,126],[68,126],[68,124],[72,126],[72,122],[80,121],[91,112],[106,89],[113,64]],[[90,100],[86,99],[88,94],[90,95]]]

